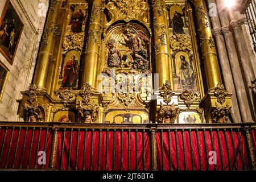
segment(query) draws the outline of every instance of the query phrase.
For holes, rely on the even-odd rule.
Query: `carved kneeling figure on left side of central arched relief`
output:
[[[110,39],[108,42],[109,56],[108,56],[108,66],[109,68],[121,68],[121,53],[115,46],[115,40]]]

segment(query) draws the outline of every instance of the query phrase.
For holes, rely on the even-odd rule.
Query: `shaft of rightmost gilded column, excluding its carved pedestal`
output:
[[[200,46],[203,53],[204,68],[208,89],[221,84],[220,68],[210,28],[207,7],[204,0],[192,0],[196,10],[196,20],[199,27]]]

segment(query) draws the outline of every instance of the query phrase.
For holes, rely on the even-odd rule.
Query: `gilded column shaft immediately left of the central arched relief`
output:
[[[100,59],[102,14],[104,10],[104,1],[94,0],[92,5],[92,15],[90,18],[89,37],[87,50],[84,58],[84,69],[82,72],[82,84],[89,82],[93,88],[97,88],[97,69]]]

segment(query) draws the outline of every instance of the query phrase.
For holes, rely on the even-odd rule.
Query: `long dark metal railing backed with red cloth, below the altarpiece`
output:
[[[0,122],[0,169],[255,169],[256,125]],[[44,163],[39,163],[44,151]],[[209,163],[215,152],[214,164]],[[214,155],[213,155],[214,156]],[[43,161],[43,160],[42,160]]]

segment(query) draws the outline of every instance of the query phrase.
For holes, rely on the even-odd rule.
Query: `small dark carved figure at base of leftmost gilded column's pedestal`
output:
[[[27,103],[24,105],[24,109],[27,111],[28,122],[39,122],[42,119],[42,111],[38,105],[30,106]]]

